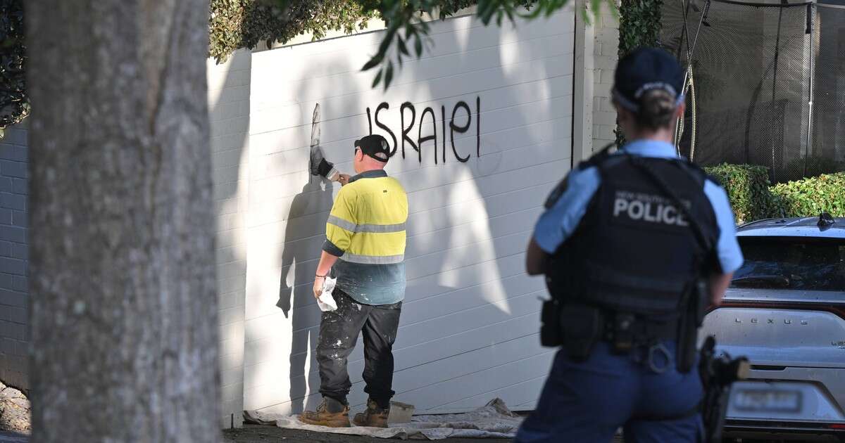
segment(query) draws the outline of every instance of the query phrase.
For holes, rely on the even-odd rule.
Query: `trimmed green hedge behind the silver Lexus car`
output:
[[[705,168],[728,192],[738,224],[775,217],[845,217],[845,172],[771,186],[765,166],[722,164]]]

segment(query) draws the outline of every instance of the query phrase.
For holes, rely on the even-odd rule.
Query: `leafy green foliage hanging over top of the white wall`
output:
[[[286,43],[300,34],[322,38],[330,30],[347,34],[366,28],[368,19],[380,18],[386,25],[379,50],[362,70],[378,68],[373,87],[387,88],[406,57],[421,57],[429,44],[430,26],[423,14],[444,19],[462,8],[477,6],[483,24],[517,17],[549,16],[574,0],[212,0],[211,51],[218,62],[238,48],[254,48],[260,41]],[[593,10],[613,0],[589,0]],[[522,8],[530,8],[526,11]],[[585,18],[586,10],[584,11]]]

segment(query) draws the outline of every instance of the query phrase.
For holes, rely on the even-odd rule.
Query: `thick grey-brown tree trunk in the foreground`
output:
[[[26,3],[34,442],[220,439],[208,8]]]

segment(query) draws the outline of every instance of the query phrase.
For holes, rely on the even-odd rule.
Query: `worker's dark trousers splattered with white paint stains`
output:
[[[363,332],[363,379],[370,398],[386,408],[393,397],[393,343],[399,328],[402,302],[392,305],[363,305],[335,289],[337,310],[323,312],[319,325],[317,363],[319,392],[346,402],[352,387],[346,359],[355,348],[358,332]]]

